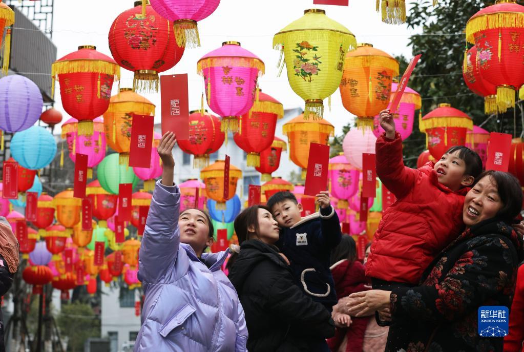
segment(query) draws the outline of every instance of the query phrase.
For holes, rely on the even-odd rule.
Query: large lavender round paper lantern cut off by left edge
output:
[[[0,11],[2,7],[0,7]],[[18,132],[28,129],[42,113],[42,94],[38,86],[25,76],[13,74],[0,79],[0,129]]]

